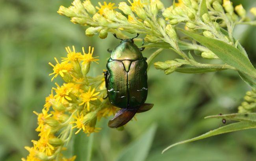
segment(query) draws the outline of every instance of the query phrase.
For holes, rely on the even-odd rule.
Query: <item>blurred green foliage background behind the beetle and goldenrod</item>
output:
[[[67,52],[65,47],[75,46],[76,52],[87,51],[95,47],[94,56],[99,56],[99,65],[91,65],[91,76],[102,74],[110,54],[119,44],[113,36],[101,40],[97,35],[87,37],[86,26],[75,25],[70,19],[57,13],[59,6],[68,7],[72,0],[0,0],[0,161],[17,161],[26,157],[25,146],[32,147],[32,139],[38,139],[37,116],[33,111],[41,112],[45,97],[50,94],[54,82],[63,83],[61,78],[51,82],[54,57],[61,60]],[[103,4],[103,1],[100,1]],[[115,2],[118,0],[106,0]],[[171,0],[162,0],[166,7]],[[256,7],[255,0],[232,0],[234,5],[243,4],[249,11]],[[97,5],[96,1],[92,2]],[[252,14],[248,16],[254,18]],[[128,36],[134,36],[128,34]],[[142,37],[140,35],[139,37]],[[239,25],[234,29],[234,36],[240,39],[253,65],[256,64],[256,27]],[[137,42],[136,42],[137,43]],[[138,42],[137,45],[140,45]],[[156,49],[143,52],[150,56]],[[165,61],[179,58],[172,51],[163,51],[155,60]],[[202,58],[197,57],[198,61]],[[245,92],[250,90],[235,71],[222,71],[207,74],[165,75],[163,71],[150,68],[148,72],[147,103],[154,103],[152,110],[139,114],[137,121],[130,121],[125,130],[120,132],[108,128],[108,119],[102,119],[96,127],[93,140],[92,161],[113,161],[118,158],[131,160],[136,149],[135,143],[141,144],[142,159],[138,161],[254,161],[256,159],[256,129],[243,130],[210,137],[171,148],[164,154],[161,151],[178,141],[198,136],[220,126],[221,119],[204,119],[205,116],[219,113],[237,112],[237,106],[243,101]],[[227,123],[230,123],[229,121]],[[153,125],[153,127],[152,127]],[[157,125],[155,136],[154,125]],[[151,128],[151,133],[147,129]],[[152,130],[153,129],[153,130]],[[146,133],[145,133],[146,132]],[[80,132],[81,133],[81,132]],[[145,133],[145,134],[143,134]],[[152,135],[152,136],[147,136]],[[143,136],[144,135],[144,136]],[[150,139],[152,146],[150,147]],[[86,139],[79,134],[69,144],[64,154],[70,157],[76,149],[72,143]],[[74,141],[75,140],[75,141]],[[85,141],[86,142],[86,141]],[[86,147],[87,145],[80,145]],[[137,146],[138,147],[138,146]],[[131,155],[126,155],[130,152]],[[140,152],[140,151],[138,151]],[[124,155],[123,155],[124,154]],[[82,154],[81,154],[82,155]],[[144,158],[144,159],[143,159]],[[79,159],[79,156],[78,156]],[[81,159],[80,160],[86,160]],[[120,159],[119,159],[120,160]]]

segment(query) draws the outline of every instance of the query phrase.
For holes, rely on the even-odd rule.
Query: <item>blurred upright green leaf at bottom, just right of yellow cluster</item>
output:
[[[87,136],[87,134],[83,132],[75,134],[74,155],[76,156],[76,161],[91,161],[93,136],[94,133],[90,136]]]

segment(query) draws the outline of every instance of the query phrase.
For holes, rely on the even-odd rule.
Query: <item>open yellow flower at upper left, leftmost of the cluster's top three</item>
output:
[[[64,77],[63,72],[68,72],[68,71],[70,71],[70,70],[72,69],[72,65],[71,65],[70,63],[65,63],[65,62],[59,63],[56,58],[54,58],[54,59],[55,59],[56,62],[57,62],[57,64],[56,64],[55,66],[52,65],[52,63],[49,63],[49,64],[53,67],[53,71],[54,71],[53,73],[49,74],[49,76],[56,73],[56,74],[54,75],[54,77],[52,77],[52,80],[53,80],[54,78],[56,78],[56,77],[58,76],[58,74],[59,74],[60,76]]]

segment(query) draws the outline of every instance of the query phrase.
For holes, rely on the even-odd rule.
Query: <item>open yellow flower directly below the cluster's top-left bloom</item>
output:
[[[65,98],[68,100],[72,100],[69,97],[70,92],[72,91],[74,84],[73,83],[63,83],[63,85],[61,87],[59,87],[59,85],[57,83],[55,83],[57,85],[57,89],[56,88],[52,88],[55,90],[56,95],[54,96],[54,98],[56,98],[56,101],[59,102],[61,101],[61,103],[64,103]]]

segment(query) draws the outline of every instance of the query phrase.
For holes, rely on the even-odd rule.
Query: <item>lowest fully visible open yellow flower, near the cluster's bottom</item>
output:
[[[41,137],[38,141],[32,140],[35,146],[39,149],[40,152],[45,152],[46,156],[52,155],[52,150],[54,147],[49,144],[49,139],[54,138],[54,135],[50,134],[50,129],[44,132],[41,132]]]

